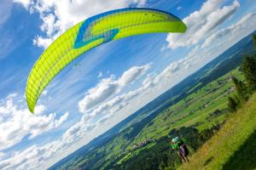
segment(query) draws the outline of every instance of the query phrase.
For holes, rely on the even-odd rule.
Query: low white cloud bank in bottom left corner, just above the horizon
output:
[[[55,156],[67,151],[70,144],[86,135],[91,128],[92,126],[86,126],[82,122],[77,123],[69,128],[61,139],[15,151],[14,155],[0,161],[0,169],[46,169],[49,166],[49,161],[55,160]]]

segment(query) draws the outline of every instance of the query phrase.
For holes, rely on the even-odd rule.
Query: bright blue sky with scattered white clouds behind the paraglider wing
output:
[[[166,10],[188,31],[90,50],[55,77],[30,114],[26,79],[44,48],[80,20],[126,7]],[[254,31],[255,9],[254,0],[1,1],[0,168],[45,169],[88,143]]]

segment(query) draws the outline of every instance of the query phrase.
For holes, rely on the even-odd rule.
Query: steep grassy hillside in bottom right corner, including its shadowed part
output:
[[[256,169],[256,94],[212,139],[203,144],[183,169]]]

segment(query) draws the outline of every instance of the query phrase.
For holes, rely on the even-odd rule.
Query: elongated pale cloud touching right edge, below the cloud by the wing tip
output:
[[[216,31],[210,37],[207,37],[205,42],[202,44],[202,48],[208,47],[214,41],[223,40],[223,38],[225,38],[225,43],[227,43],[227,40],[230,40],[230,38],[234,40],[234,38],[237,37],[247,36],[248,33],[251,33],[256,29],[255,23],[256,13],[246,14],[241,18],[241,20],[236,22],[236,24]]]

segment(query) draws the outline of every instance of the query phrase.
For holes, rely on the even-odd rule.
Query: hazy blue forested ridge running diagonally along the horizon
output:
[[[194,74],[186,77],[182,82],[177,83],[177,85],[170,88],[147,105],[143,106],[143,108],[136,111],[131,116],[128,116],[122,122],[119,122],[106,133],[103,133],[96,139],[91,140],[90,143],[85,144],[79,150],[74,151],[61,161],[58,161],[55,165],[49,167],[49,169],[56,169],[68,161],[76,160],[79,156],[89,153],[90,150],[94,150],[102,144],[108,143],[108,141],[113,139],[115,135],[124,131],[125,127],[128,125],[129,127],[133,125],[136,126],[138,123],[144,124],[144,122],[152,120],[158,115],[158,113],[160,113],[160,111],[166,109],[166,107],[174,105],[177,101],[194,93],[197,89],[205,86],[208,82],[212,82],[212,80],[215,80],[236,68],[241,63],[241,54],[251,53],[252,50],[253,45],[250,34],[226,50],[223,54],[220,54],[217,58],[213,59],[207,65],[203,66],[199,71],[196,71]],[[195,85],[197,84],[199,85],[195,88]],[[138,117],[140,116],[143,117],[143,119],[138,121]]]

